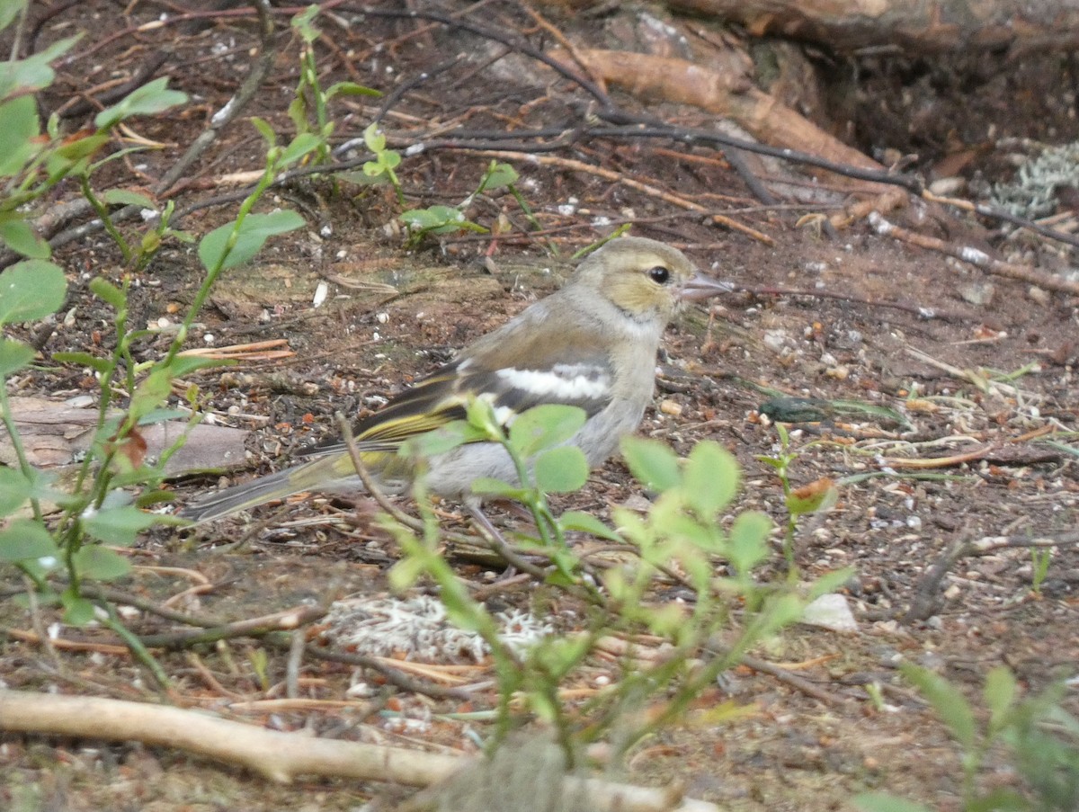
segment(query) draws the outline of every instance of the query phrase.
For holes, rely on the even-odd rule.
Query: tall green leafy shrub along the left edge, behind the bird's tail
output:
[[[10,22],[10,21],[8,21]],[[0,241],[28,257],[0,273],[0,327],[33,322],[56,312],[67,296],[63,269],[49,261],[46,242],[37,236],[30,222],[44,195],[66,178],[78,180],[79,188],[101,217],[106,229],[124,256],[128,268],[137,270],[158,251],[162,240],[178,235],[168,229],[167,205],[160,224],[132,248],[109,218],[108,205],[136,203],[152,207],[141,197],[110,191],[98,197],[92,188],[95,171],[122,152],[97,159],[110,140],[110,131],[134,116],[162,112],[183,104],[186,96],[166,87],[160,79],[139,87],[95,118],[93,132],[64,137],[55,117],[46,132],[38,125],[37,104],[31,95],[53,80],[49,63],[71,48],[74,40],[64,40],[42,54],[0,65],[0,119],[5,121],[0,150],[6,158],[0,163]],[[267,162],[262,178],[241,204],[231,222],[211,231],[199,245],[199,257],[206,275],[194,302],[161,358],[138,362],[134,349],[155,338],[152,330],[132,329],[127,322],[132,276],[118,285],[99,276],[90,282],[91,293],[113,311],[114,349],[106,356],[86,352],[56,353],[55,363],[87,367],[98,382],[98,420],[88,454],[70,487],[59,488],[55,478],[30,464],[15,425],[6,394],[9,379],[33,363],[35,351],[14,338],[0,339],[0,420],[11,439],[17,468],[0,469],[0,563],[14,565],[33,582],[45,601],[64,607],[68,623],[83,624],[95,618],[112,626],[136,648],[150,664],[137,640],[120,625],[112,607],[83,596],[83,581],[111,581],[129,571],[127,558],[105,546],[129,546],[139,532],[154,524],[175,524],[178,519],[149,513],[145,509],[167,498],[161,489],[163,466],[179,445],[168,449],[154,464],[141,451],[140,427],[180,417],[188,411],[167,408],[174,383],[194,369],[206,366],[203,358],[179,354],[195,314],[222,270],[250,259],[273,235],[300,228],[303,219],[295,212],[276,211],[254,214],[256,202],[277,175],[289,165],[317,149],[319,137],[304,133],[287,146],[276,145],[264,122],[256,122],[267,138]],[[190,393],[190,406],[194,406]],[[194,419],[194,418],[192,418]],[[182,441],[181,441],[182,443]],[[126,489],[138,488],[133,499]],[[43,504],[54,504],[56,515],[46,518]],[[151,665],[151,667],[153,667]],[[154,673],[163,678],[160,669]]]

